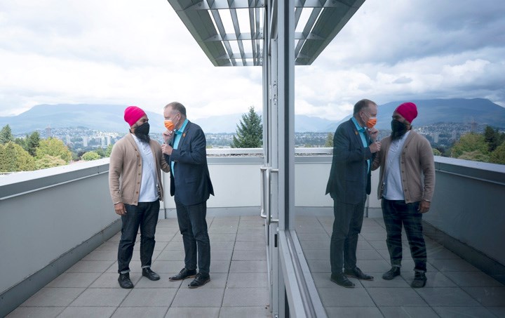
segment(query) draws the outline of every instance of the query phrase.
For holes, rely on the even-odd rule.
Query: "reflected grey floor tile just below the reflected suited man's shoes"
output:
[[[324,307],[375,307],[365,289],[337,286],[334,289],[318,289],[318,293]]]

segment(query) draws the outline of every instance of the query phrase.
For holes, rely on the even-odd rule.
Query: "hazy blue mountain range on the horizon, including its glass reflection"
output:
[[[439,122],[487,124],[493,127],[505,128],[505,108],[484,98],[473,99],[433,99],[410,100],[418,107],[418,117],[412,121],[416,127],[436,124]],[[379,105],[377,128],[391,127],[391,114],[401,102],[387,102]],[[128,126],[123,120],[125,105],[89,105],[89,104],[58,104],[36,105],[17,116],[0,117],[0,127],[8,124],[13,134],[30,133],[36,130],[51,128],[86,127],[97,131],[124,133]],[[151,131],[161,133],[163,116],[147,112]],[[242,114],[228,114],[215,117],[196,119],[196,124],[206,133],[235,133],[236,125]],[[297,133],[334,132],[337,126],[351,117],[341,121],[331,121],[321,117],[295,115],[295,131]],[[189,118],[191,120],[191,118]]]

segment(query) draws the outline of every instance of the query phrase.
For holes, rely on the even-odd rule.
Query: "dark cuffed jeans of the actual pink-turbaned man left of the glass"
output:
[[[137,206],[125,204],[126,214],[121,216],[121,241],[118,249],[118,272],[130,272],[133,246],[140,227],[140,263],[142,268],[151,267],[154,251],[154,232],[158,223],[159,200],[139,202]]]

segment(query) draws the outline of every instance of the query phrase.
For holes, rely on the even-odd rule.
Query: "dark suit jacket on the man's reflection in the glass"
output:
[[[372,143],[368,131],[368,145]],[[332,199],[347,204],[358,204],[370,194],[370,172],[367,160],[372,164],[375,154],[363,147],[359,132],[352,119],[344,121],[333,137],[333,159],[326,194]]]

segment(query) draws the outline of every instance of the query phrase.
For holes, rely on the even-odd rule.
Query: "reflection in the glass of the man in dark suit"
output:
[[[360,100],[353,117],[340,124],[333,137],[333,158],[326,194],[333,199],[333,232],[330,241],[331,280],[354,287],[347,277],[372,280],[356,266],[358,234],[363,224],[367,194],[370,194],[370,166],[380,143],[375,141],[377,104]],[[342,268],[344,271],[342,272]]]

